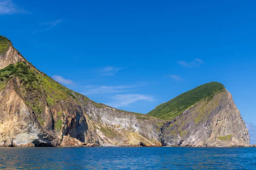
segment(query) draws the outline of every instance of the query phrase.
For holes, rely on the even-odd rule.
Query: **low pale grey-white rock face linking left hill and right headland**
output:
[[[139,113],[130,113],[104,105],[96,107],[91,102],[84,106],[97,129],[103,145],[161,146],[161,119]]]

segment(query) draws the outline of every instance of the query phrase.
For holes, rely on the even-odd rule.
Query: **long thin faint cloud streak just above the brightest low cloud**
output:
[[[87,88],[82,94],[91,95],[91,94],[110,94],[110,93],[122,93],[131,91],[133,88],[137,88],[145,85],[145,83],[140,83],[138,85],[118,85],[118,86],[98,86]]]

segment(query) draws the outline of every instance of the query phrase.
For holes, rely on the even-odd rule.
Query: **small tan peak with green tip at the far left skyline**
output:
[[[10,64],[16,64],[17,62],[23,62],[25,59],[17,51],[12,42],[0,35],[0,69],[7,67]]]

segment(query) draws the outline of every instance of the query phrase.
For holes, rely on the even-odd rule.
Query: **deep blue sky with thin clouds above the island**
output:
[[[207,82],[256,143],[256,1],[0,0],[0,35],[40,71],[137,113]]]

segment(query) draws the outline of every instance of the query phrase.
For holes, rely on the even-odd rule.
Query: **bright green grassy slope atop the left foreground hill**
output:
[[[70,90],[25,62],[0,70],[0,90],[13,78],[20,81],[17,91],[35,113],[41,113],[46,103],[52,106],[58,100],[74,98]]]

